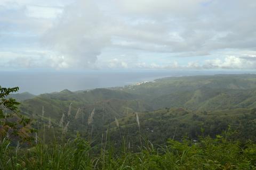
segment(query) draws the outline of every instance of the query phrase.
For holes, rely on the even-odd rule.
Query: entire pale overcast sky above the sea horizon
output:
[[[255,0],[0,0],[0,70],[256,69]]]

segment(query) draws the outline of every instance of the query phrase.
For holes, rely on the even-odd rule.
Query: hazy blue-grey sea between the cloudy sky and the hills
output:
[[[187,75],[255,73],[254,71],[168,71],[168,70],[108,70],[108,71],[1,71],[2,87],[20,88],[19,92],[39,95],[94,88],[126,86],[141,81]]]

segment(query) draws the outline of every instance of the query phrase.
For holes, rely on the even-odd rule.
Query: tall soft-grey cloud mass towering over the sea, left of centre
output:
[[[92,67],[101,50],[110,44],[109,23],[93,1],[76,1],[44,35],[49,49],[67,60],[67,66]]]

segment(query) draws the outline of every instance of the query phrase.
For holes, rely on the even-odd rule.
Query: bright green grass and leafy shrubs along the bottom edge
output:
[[[38,143],[29,149],[0,143],[1,169],[256,169],[256,145],[242,145],[225,137],[200,141],[169,140],[164,147],[145,142],[138,152],[123,142],[114,149],[98,147],[78,137],[64,143]]]

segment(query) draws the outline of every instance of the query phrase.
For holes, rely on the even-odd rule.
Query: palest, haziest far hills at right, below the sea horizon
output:
[[[185,107],[192,110],[253,108],[256,75],[213,75],[157,79],[119,90],[140,94],[153,109]]]

